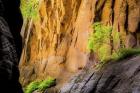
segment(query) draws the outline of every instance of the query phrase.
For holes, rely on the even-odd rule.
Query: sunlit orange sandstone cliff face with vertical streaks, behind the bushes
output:
[[[87,43],[95,22],[113,27],[112,51],[122,45],[139,47],[139,0],[40,0],[39,4],[38,19],[25,20],[23,26],[23,85],[46,76],[67,81],[66,77],[84,68],[89,62]],[[117,40],[116,32],[120,33]]]

